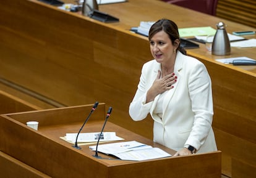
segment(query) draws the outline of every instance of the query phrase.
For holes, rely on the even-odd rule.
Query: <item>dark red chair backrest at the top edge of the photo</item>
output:
[[[188,9],[197,10],[205,14],[216,15],[216,7],[218,0],[162,0],[169,4],[186,7]]]

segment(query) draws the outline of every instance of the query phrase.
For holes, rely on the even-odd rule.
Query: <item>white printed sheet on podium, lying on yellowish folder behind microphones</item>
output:
[[[90,133],[80,133],[77,138],[77,133],[67,133],[66,140],[72,143],[75,143],[75,139],[77,138],[77,142],[97,142],[100,136],[100,132],[90,132]],[[103,132],[100,138],[100,141],[116,141],[116,140],[124,140],[121,137],[116,136],[116,132]]]

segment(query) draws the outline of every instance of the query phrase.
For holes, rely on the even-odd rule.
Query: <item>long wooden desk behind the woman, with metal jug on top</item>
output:
[[[147,38],[129,31],[140,21],[170,18],[179,28],[212,26],[219,21],[228,32],[255,28],[201,14],[161,1],[129,0],[100,6],[119,23],[101,23],[41,2],[4,1],[0,7],[0,75],[64,105],[96,100],[114,108],[113,123],[152,138],[152,121],[134,122],[128,115],[143,63],[151,59]],[[247,38],[255,38],[247,36]],[[223,172],[228,176],[254,171],[256,67],[234,67],[215,61],[247,56],[252,49],[231,49],[215,56],[200,44],[189,55],[207,66],[213,83],[213,127],[223,150]],[[141,127],[144,126],[144,127]],[[232,150],[232,151],[230,151]],[[233,169],[234,168],[234,169]],[[234,170],[242,173],[234,172]],[[246,171],[245,171],[246,170]],[[236,176],[238,175],[238,176]]]

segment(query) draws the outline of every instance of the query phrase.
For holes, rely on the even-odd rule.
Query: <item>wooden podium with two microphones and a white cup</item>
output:
[[[221,177],[220,151],[147,161],[124,161],[111,160],[113,157],[101,153],[99,155],[105,159],[95,158],[95,152],[88,148],[89,145],[77,150],[72,144],[60,139],[59,137],[65,136],[66,133],[79,131],[92,106],[81,105],[1,115],[0,150],[17,160],[17,165],[27,165],[27,171],[23,171],[26,175],[19,177]],[[100,132],[105,117],[105,103],[100,103],[82,132]],[[27,121],[38,121],[38,131],[26,126]],[[153,147],[160,147],[172,155],[175,153],[174,150],[111,123],[111,116],[104,131],[114,131],[117,136],[124,138],[124,141],[137,140]],[[4,166],[8,168],[9,164]],[[10,172],[4,171],[3,166],[0,167],[1,176],[11,177]],[[20,168],[14,166],[12,172],[17,175]],[[41,172],[41,176],[35,176],[35,170]]]

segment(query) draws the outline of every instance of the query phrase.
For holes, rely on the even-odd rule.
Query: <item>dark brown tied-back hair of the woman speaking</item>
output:
[[[151,40],[151,38],[158,33],[159,31],[164,31],[168,34],[169,38],[171,39],[171,42],[174,44],[174,41],[176,39],[179,39],[179,46],[177,47],[176,51],[180,51],[182,54],[187,54],[186,50],[181,47],[181,39],[179,38],[179,31],[177,28],[176,23],[174,23],[171,20],[168,19],[160,19],[157,22],[155,22],[148,33],[148,39]]]

